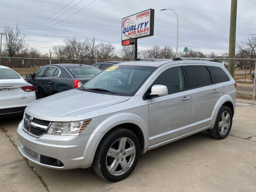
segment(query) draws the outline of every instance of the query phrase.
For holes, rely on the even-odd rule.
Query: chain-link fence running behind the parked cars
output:
[[[204,60],[204,58],[187,58],[195,60]],[[209,58],[205,58],[209,60]],[[222,62],[228,68],[227,58],[213,58]],[[253,93],[255,91],[255,66],[256,59],[234,59],[235,60],[235,75],[234,79],[237,83],[237,102],[255,103],[253,102]],[[95,62],[103,60],[74,60],[74,59],[51,59],[51,64],[57,63],[78,63],[85,65],[93,65]],[[41,58],[1,58],[0,65],[10,67],[17,71],[20,75],[34,73],[39,67],[49,65],[50,59]]]

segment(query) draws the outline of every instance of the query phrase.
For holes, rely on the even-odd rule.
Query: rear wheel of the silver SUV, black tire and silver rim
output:
[[[229,118],[227,115],[229,115]],[[217,115],[213,129],[208,131],[210,136],[215,139],[225,139],[231,130],[232,122],[233,114],[231,109],[227,106],[222,106]]]

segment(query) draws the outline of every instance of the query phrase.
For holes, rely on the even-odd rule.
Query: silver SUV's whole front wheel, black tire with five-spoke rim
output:
[[[102,179],[121,181],[132,173],[139,155],[140,142],[137,136],[120,127],[107,133],[101,140],[94,157],[93,170]]]

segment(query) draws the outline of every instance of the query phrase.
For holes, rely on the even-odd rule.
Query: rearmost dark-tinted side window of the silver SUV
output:
[[[220,67],[208,66],[212,76],[212,83],[221,83],[230,81],[228,75]]]

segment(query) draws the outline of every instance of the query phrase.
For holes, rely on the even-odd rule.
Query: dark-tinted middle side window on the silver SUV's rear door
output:
[[[211,84],[211,76],[205,66],[185,66],[190,89]]]

